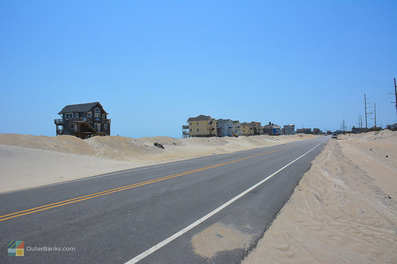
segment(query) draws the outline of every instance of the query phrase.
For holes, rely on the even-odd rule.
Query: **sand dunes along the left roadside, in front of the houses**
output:
[[[272,146],[313,135],[239,138],[128,138],[0,134],[0,192],[144,165]],[[165,149],[154,146],[163,144]]]

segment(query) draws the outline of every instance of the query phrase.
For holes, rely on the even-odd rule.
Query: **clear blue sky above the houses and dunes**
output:
[[[113,135],[199,114],[339,129],[397,122],[397,1],[0,0],[0,133],[55,135],[99,101]],[[368,126],[374,121],[368,119]]]

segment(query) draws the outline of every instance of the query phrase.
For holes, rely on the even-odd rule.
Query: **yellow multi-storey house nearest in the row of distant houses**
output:
[[[216,137],[218,136],[217,121],[209,115],[189,117],[188,132],[184,137]],[[186,126],[182,126],[186,130]]]

